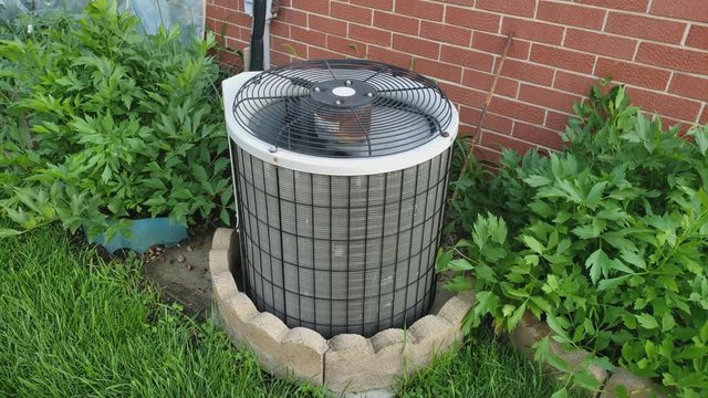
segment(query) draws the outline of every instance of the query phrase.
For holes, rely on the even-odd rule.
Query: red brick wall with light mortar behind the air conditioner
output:
[[[243,0],[207,2],[208,27],[231,48],[248,45]],[[708,0],[282,0],[271,61],[413,65],[439,80],[469,133],[510,31],[480,156],[559,147],[572,104],[604,76],[670,124],[708,123]]]

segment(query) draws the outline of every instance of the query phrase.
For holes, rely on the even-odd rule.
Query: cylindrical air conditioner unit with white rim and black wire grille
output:
[[[457,111],[429,78],[308,61],[223,82],[244,289],[325,337],[426,315]]]

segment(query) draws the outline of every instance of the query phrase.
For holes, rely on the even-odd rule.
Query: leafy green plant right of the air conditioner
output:
[[[575,107],[569,148],[528,170],[528,222],[478,214],[471,238],[438,258],[473,287],[475,327],[513,329],[525,311],[553,339],[594,353],[684,397],[708,390],[708,127],[691,139],[629,106],[622,86]],[[503,200],[503,198],[501,198]],[[507,214],[503,214],[509,217]],[[540,357],[562,364],[538,346]],[[595,389],[586,375],[576,384]]]

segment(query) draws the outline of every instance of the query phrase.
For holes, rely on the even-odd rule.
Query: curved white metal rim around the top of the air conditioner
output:
[[[428,143],[407,151],[376,157],[319,157],[275,148],[267,144],[239,125],[233,116],[233,101],[239,88],[251,77],[261,72],[243,72],[222,83],[223,108],[229,137],[249,154],[263,161],[303,172],[331,176],[362,176],[405,169],[435,158],[455,142],[459,128],[459,115],[452,106],[452,118],[446,129],[447,137],[436,136]],[[272,151],[274,150],[274,151]]]

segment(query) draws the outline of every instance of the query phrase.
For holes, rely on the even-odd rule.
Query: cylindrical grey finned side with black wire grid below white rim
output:
[[[278,167],[231,145],[242,280],[259,311],[327,338],[368,337],[427,314],[450,149],[345,177]]]

